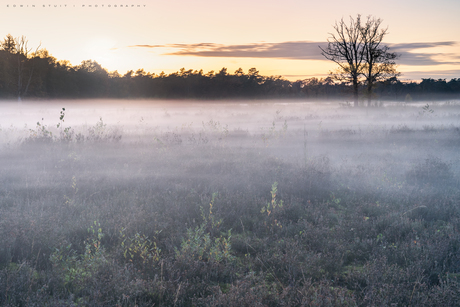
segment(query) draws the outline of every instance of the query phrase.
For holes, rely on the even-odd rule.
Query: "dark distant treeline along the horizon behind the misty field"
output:
[[[460,98],[460,78],[401,82],[392,78],[374,90],[379,100]],[[31,52],[24,38],[8,35],[0,45],[0,98],[304,98],[351,99],[351,87],[328,78],[295,82],[262,76],[256,68],[229,73],[185,70],[154,74],[143,69],[120,75],[86,60],[72,66],[46,49]]]

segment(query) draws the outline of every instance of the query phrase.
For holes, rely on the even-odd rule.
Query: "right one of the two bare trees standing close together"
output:
[[[397,77],[400,74],[396,71],[398,54],[389,52],[388,46],[382,46],[382,41],[388,33],[388,28],[381,29],[382,20],[368,17],[366,23],[361,27],[361,36],[364,39],[364,61],[365,66],[362,74],[366,80],[367,104],[371,105],[372,91],[375,82]]]

